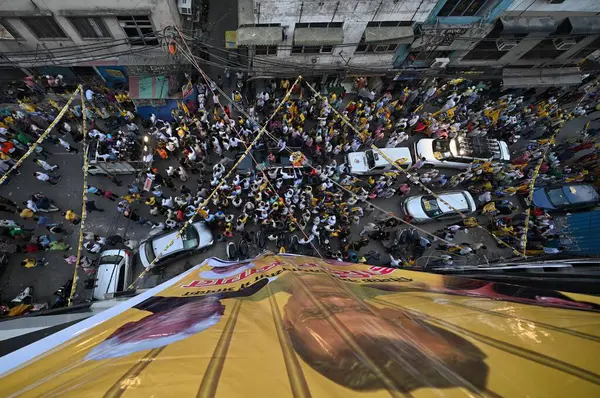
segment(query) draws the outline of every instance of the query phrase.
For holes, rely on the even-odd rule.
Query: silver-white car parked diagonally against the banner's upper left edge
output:
[[[206,249],[214,242],[212,232],[202,221],[190,225],[180,237],[177,237],[177,232],[169,231],[142,242],[139,248],[139,256],[144,268],[148,269],[150,263],[157,256],[161,257],[152,265],[152,268],[165,265],[195,251]],[[167,245],[171,240],[174,240],[174,243],[167,249]]]

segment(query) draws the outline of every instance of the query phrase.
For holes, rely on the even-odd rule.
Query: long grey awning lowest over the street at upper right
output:
[[[554,87],[581,83],[579,68],[555,69],[504,69],[502,85],[512,87]]]

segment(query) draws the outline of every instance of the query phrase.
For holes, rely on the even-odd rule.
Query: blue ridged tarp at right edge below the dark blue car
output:
[[[600,211],[555,217],[554,221],[561,245],[567,248],[563,253],[600,255]]]

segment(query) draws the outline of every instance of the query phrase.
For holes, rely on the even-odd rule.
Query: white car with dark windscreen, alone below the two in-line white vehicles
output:
[[[464,215],[477,209],[473,196],[467,191],[448,191],[437,196]],[[414,223],[460,218],[460,214],[432,195],[409,196],[402,201],[402,212],[412,217]]]

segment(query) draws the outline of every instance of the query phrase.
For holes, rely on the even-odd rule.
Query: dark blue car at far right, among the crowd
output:
[[[586,210],[599,202],[598,192],[586,184],[544,187],[533,191],[533,205],[548,212]]]

